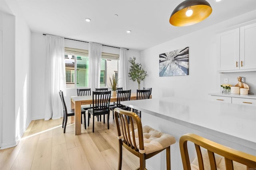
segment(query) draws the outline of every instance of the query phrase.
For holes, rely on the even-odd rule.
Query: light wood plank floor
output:
[[[86,116],[87,118],[87,116]],[[96,117],[95,117],[96,118]],[[0,150],[0,170],[115,170],[118,167],[116,124],[110,112],[107,123],[95,122],[82,134],[74,135],[68,121],[63,133],[62,119],[32,121],[16,147]],[[139,159],[123,149],[123,170],[136,169]]]

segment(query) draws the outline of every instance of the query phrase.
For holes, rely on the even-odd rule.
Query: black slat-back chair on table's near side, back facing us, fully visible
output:
[[[89,116],[92,115],[92,132],[94,132],[94,116],[104,116],[107,115],[107,123],[109,129],[109,103],[110,103],[111,91],[107,92],[92,92],[92,108],[88,109],[88,126],[89,126]],[[89,114],[90,113],[90,114]]]

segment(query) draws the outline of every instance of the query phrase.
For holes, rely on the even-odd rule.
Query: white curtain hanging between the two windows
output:
[[[92,91],[100,88],[101,53],[101,44],[89,42],[89,85]]]

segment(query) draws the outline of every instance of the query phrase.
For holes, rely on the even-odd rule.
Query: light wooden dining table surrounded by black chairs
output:
[[[137,100],[137,94],[131,93],[130,100]],[[117,102],[117,96],[111,96],[110,102]],[[75,109],[75,116],[71,117],[71,123],[75,123],[75,135],[81,134],[81,106],[87,104],[92,104],[92,96],[71,97],[71,109]]]

